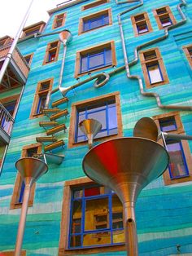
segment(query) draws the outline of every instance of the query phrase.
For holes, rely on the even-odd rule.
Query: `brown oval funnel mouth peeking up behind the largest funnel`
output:
[[[150,117],[142,117],[139,119],[134,126],[133,136],[157,141],[158,128],[155,124],[155,121],[153,121],[153,119]]]

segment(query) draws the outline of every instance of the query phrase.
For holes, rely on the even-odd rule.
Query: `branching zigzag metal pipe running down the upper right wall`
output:
[[[129,66],[133,66],[133,64],[137,64],[137,61],[138,61],[138,50],[141,49],[142,47],[144,46],[150,46],[151,44],[155,43],[155,42],[159,42],[161,40],[164,40],[165,38],[168,38],[168,30],[170,29],[174,29],[178,26],[180,26],[181,24],[184,24],[186,22],[186,18],[185,18],[185,15],[183,14],[183,12],[181,11],[181,6],[185,6],[186,5],[186,2],[185,0],[181,0],[181,3],[179,3],[177,5],[177,10],[180,12],[180,15],[182,17],[182,20],[180,22],[178,22],[177,24],[173,24],[171,25],[170,27],[168,27],[167,29],[164,29],[164,35],[160,38],[155,38],[153,40],[151,40],[150,42],[146,42],[146,43],[143,43],[142,45],[140,46],[137,46],[134,50],[134,60],[131,61],[129,63],[129,60],[128,60],[128,57],[127,57],[127,51],[126,51],[126,46],[125,46],[125,42],[124,42],[124,33],[123,33],[123,28],[122,28],[122,24],[121,24],[121,20],[120,20],[120,15],[124,15],[124,13],[127,13],[129,11],[132,11],[133,9],[137,8],[137,7],[141,7],[142,4],[143,4],[143,1],[140,0],[139,1],[140,4],[138,4],[136,7],[131,7],[129,8],[129,10],[127,11],[123,11],[121,12],[119,15],[118,15],[118,21],[119,21],[119,25],[120,25],[120,36],[121,36],[121,41],[122,41],[122,47],[123,47],[123,53],[124,53],[124,64],[125,64],[125,70],[126,70],[126,73],[127,73],[127,77],[130,78],[130,79],[137,79],[138,80],[138,83],[139,83],[139,89],[140,89],[140,93],[143,95],[143,96],[146,96],[146,97],[155,97],[156,99],[156,102],[157,102],[157,105],[159,108],[164,108],[164,109],[179,109],[179,110],[186,110],[186,111],[191,111],[192,110],[192,107],[191,106],[181,106],[181,105],[164,105],[161,103],[161,99],[160,99],[160,96],[159,94],[157,93],[154,93],[154,92],[146,92],[144,90],[144,87],[143,87],[143,83],[142,83],[142,78],[140,76],[137,76],[137,75],[131,75],[130,72],[129,72]]]

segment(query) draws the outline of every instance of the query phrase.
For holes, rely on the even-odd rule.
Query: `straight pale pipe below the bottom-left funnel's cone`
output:
[[[32,183],[25,184],[24,187],[24,200],[22,203],[21,213],[20,213],[20,224],[18,227],[16,244],[15,244],[15,256],[20,256],[21,247],[24,238],[24,227],[26,223],[26,216],[28,212],[28,200],[31,192]]]

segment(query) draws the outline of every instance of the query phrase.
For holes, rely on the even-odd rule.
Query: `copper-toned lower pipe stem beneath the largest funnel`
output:
[[[138,256],[137,246],[137,229],[135,221],[135,210],[133,202],[125,202],[124,204],[124,232],[125,245],[128,256]]]

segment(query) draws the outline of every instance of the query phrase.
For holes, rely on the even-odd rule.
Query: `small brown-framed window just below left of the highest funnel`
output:
[[[43,64],[48,64],[58,60],[60,42],[50,42],[46,47],[46,56]]]

